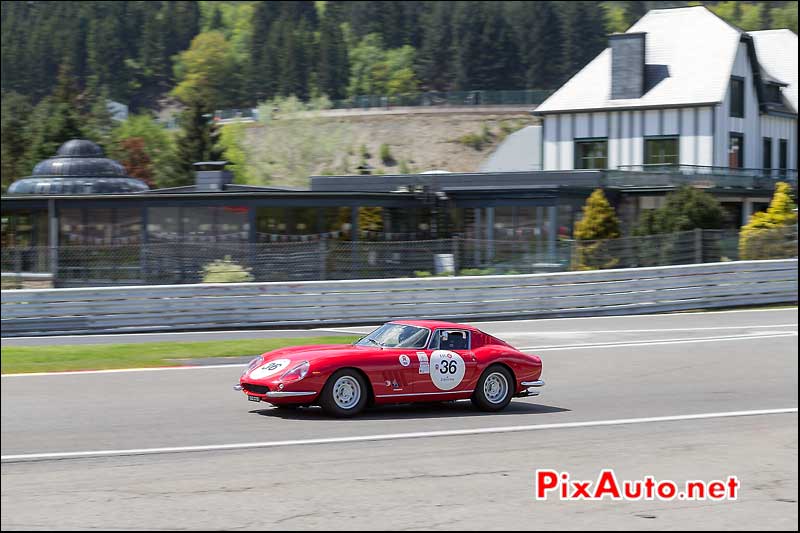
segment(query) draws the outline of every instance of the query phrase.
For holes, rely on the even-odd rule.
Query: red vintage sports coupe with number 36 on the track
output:
[[[278,407],[353,416],[367,405],[472,400],[499,411],[544,385],[542,361],[474,327],[387,322],[353,344],[295,346],[253,359],[234,388]]]

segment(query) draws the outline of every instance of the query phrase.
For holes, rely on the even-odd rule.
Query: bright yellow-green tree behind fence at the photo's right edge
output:
[[[739,233],[740,259],[797,257],[797,205],[792,188],[779,182],[766,212],[750,217]]]

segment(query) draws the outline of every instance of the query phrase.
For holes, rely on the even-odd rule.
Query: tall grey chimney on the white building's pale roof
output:
[[[644,94],[645,36],[615,33],[608,36],[611,46],[611,99],[640,98]]]

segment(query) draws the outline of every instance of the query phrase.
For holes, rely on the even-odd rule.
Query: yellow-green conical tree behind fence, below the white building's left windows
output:
[[[596,189],[586,200],[583,217],[575,224],[577,241],[573,259],[576,270],[614,268],[619,259],[613,253],[613,241],[620,236],[619,219],[602,189]]]

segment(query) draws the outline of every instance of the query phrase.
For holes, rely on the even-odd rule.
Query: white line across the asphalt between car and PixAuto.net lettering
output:
[[[528,426],[502,426],[494,428],[455,429],[445,431],[422,431],[416,433],[390,433],[384,435],[363,435],[358,437],[332,437],[325,439],[282,440],[272,442],[245,442],[237,444],[211,444],[206,446],[173,446],[168,448],[132,448],[127,450],[95,450],[85,452],[54,452],[3,455],[2,462],[36,461],[48,459],[79,459],[87,457],[115,457],[124,455],[154,455],[163,453],[209,452],[221,450],[244,450],[252,448],[277,448],[282,446],[303,446],[309,444],[343,444],[351,442],[386,441],[401,439],[423,439],[434,437],[459,437],[464,435],[485,435],[492,433],[516,433],[545,429],[570,429],[598,426],[621,426],[649,424],[654,422],[677,422],[683,420],[706,420],[710,418],[731,418],[739,416],[759,416],[797,413],[797,407],[783,409],[760,409],[754,411],[728,411],[721,413],[701,413],[693,415],[657,416],[648,418],[619,418],[614,420],[590,420],[587,422],[564,422],[558,424],[535,424]]]

